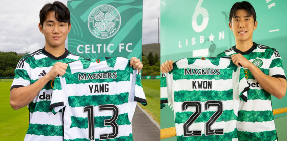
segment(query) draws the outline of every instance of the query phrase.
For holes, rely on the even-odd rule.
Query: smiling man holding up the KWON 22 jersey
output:
[[[231,56],[233,63],[244,67],[250,84],[248,100],[238,112],[238,140],[277,140],[273,119],[271,95],[281,99],[287,88],[282,59],[278,51],[256,44],[252,40],[257,28],[256,12],[246,1],[235,3],[229,15],[229,27],[235,36],[235,46],[217,55]],[[169,72],[172,60],[161,65]]]

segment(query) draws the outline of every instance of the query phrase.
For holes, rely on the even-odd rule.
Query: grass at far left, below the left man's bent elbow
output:
[[[24,140],[29,125],[28,108],[14,110],[10,106],[11,81],[0,80],[0,140]]]

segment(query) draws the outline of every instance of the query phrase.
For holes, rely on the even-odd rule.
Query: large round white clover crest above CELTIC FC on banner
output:
[[[97,6],[88,17],[90,32],[100,39],[114,36],[120,28],[120,23],[120,13],[111,5]]]

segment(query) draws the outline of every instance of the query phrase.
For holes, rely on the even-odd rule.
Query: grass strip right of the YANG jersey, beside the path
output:
[[[160,125],[160,79],[142,79],[142,87],[144,88],[148,105],[139,105]]]

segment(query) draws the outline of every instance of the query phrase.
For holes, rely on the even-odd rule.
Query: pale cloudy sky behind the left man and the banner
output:
[[[67,5],[67,0],[59,0]],[[160,1],[143,0],[142,44],[158,43],[158,18]],[[2,0],[0,4],[0,51],[26,53],[45,46],[40,33],[40,9],[54,0]],[[67,46],[67,40],[66,40]]]

